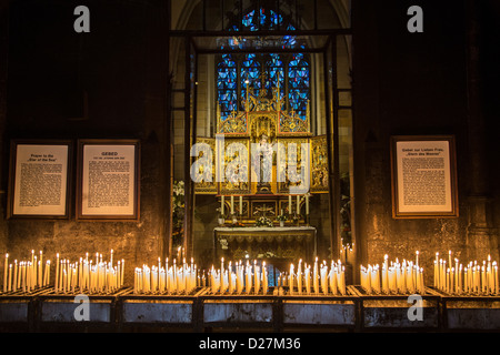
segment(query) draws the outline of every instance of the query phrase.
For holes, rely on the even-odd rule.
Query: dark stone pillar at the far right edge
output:
[[[468,83],[468,196],[469,226],[467,250],[469,258],[484,260],[488,253],[498,257],[498,230],[491,219],[491,197],[486,150],[486,129],[482,112],[480,80],[480,3],[467,0],[467,83]],[[497,254],[497,255],[494,255]]]

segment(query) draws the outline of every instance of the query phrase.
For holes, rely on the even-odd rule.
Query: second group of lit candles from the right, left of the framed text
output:
[[[423,267],[418,264],[418,252],[416,263],[407,260],[400,263],[398,258],[389,263],[384,255],[381,268],[378,264],[361,265],[360,284],[367,294],[423,294]]]

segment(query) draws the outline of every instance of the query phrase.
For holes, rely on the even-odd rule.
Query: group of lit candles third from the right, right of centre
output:
[[[346,295],[346,267],[339,260],[337,263],[331,261],[329,270],[327,261],[318,264],[316,258],[312,266],[304,263],[302,271],[302,260],[300,260],[297,272],[291,264],[290,272],[278,284],[288,286],[290,295],[328,295],[329,293]]]

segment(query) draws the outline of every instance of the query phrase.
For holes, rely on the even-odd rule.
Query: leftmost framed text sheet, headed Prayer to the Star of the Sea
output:
[[[69,219],[72,142],[12,140],[8,217]]]

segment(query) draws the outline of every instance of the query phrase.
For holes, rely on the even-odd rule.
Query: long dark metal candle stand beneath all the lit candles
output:
[[[73,293],[53,287],[31,293],[0,294],[0,328],[44,331],[141,331],[180,328],[204,332],[212,328],[286,329],[342,328],[373,331],[500,331],[499,295],[450,295],[426,287],[420,295],[422,320],[409,318],[410,294],[367,294],[359,285],[347,286],[346,295],[290,293],[288,286],[269,287],[267,294],[212,294],[197,287],[189,294],[133,294],[120,288],[110,294],[88,295],[89,322],[76,320],[80,303]],[[419,306],[419,305],[417,305]]]

